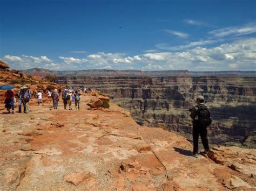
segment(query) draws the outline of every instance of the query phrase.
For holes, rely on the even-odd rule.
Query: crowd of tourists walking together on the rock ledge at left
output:
[[[78,88],[66,88],[63,90],[62,89],[53,89],[53,90],[39,90],[36,89],[33,91],[33,94],[31,94],[30,90],[28,87],[26,86],[22,86],[21,89],[19,90],[18,94],[16,95],[14,93],[14,91],[12,90],[7,90],[5,92],[5,108],[7,109],[8,113],[12,113],[14,114],[14,104],[17,102],[18,100],[18,112],[21,113],[22,112],[22,105],[23,105],[23,112],[25,114],[29,113],[29,101],[32,99],[32,97],[37,98],[37,103],[38,106],[42,104],[42,106],[44,106],[43,104],[43,93],[45,95],[48,96],[48,101],[53,102],[53,108],[54,109],[58,109],[58,103],[59,103],[59,96],[60,94],[62,94],[62,100],[64,103],[64,109],[67,108],[67,105],[69,105],[69,110],[72,110],[72,102],[75,102],[75,107],[76,109],[80,109],[80,92],[86,92],[86,88],[84,87],[78,87]],[[17,97],[17,98],[16,98]]]

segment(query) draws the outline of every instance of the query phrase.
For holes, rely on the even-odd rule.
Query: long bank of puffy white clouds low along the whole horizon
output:
[[[256,70],[256,38],[235,39],[232,43],[208,48],[200,46],[207,44],[206,41],[199,41],[196,47],[191,44],[185,45],[188,48],[186,51],[148,51],[132,56],[97,52],[79,58],[63,55],[58,58],[48,58],[46,55],[5,55],[1,59],[11,68],[17,69]]]

